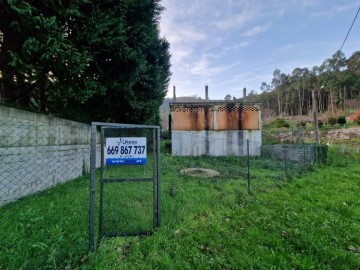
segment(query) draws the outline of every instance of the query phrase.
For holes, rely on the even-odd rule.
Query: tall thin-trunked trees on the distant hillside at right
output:
[[[306,115],[312,110],[312,91],[317,108],[333,114],[338,109],[360,107],[360,51],[349,59],[335,52],[320,66],[295,68],[291,74],[275,69],[271,85],[262,82],[261,93],[251,98],[262,102],[268,115]],[[250,100],[249,100],[250,101]],[[272,111],[272,112],[270,112]]]

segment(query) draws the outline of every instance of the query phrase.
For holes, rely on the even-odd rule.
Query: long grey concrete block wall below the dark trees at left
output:
[[[90,129],[0,106],[0,205],[89,172]]]

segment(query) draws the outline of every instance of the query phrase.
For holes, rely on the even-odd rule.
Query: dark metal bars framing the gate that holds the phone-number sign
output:
[[[104,177],[104,131],[107,129],[130,129],[130,130],[147,130],[152,131],[152,149],[153,155],[153,170],[152,177],[146,178],[106,178]],[[135,236],[149,234],[152,231],[143,232],[124,232],[124,233],[106,233],[103,232],[103,189],[104,185],[108,183],[121,182],[152,182],[153,183],[153,228],[160,226],[161,222],[161,189],[160,189],[160,126],[149,125],[131,125],[131,124],[112,124],[93,122],[91,125],[91,151],[90,151],[90,204],[89,204],[89,249],[95,251],[96,249],[96,158],[97,147],[101,147],[101,173],[100,173],[100,205],[99,205],[99,234],[98,237],[103,236]],[[121,165],[120,165],[121,166]]]

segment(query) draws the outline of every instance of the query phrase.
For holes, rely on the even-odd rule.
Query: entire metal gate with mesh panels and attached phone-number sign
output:
[[[97,189],[99,239],[150,234],[160,225],[159,126],[92,123],[90,169],[90,250]]]

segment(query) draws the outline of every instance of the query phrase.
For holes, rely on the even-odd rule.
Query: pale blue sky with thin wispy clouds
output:
[[[320,66],[341,48],[360,0],[162,0],[160,35],[170,43],[168,97],[240,98],[273,71]],[[360,50],[360,14],[343,46]]]

